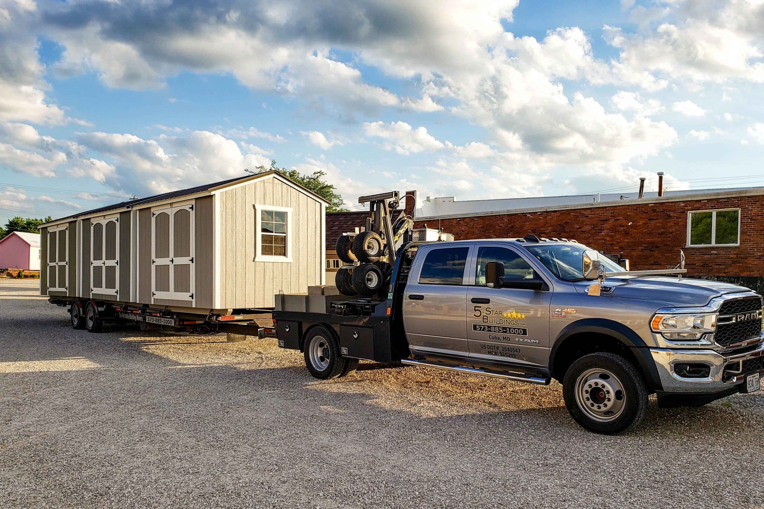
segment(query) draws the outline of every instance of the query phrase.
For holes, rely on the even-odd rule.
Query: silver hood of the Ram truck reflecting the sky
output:
[[[591,284],[591,281],[576,283],[576,291],[585,294]],[[708,304],[712,298],[726,293],[750,292],[749,288],[743,286],[706,279],[643,276],[611,277],[605,279],[602,286],[613,288],[612,292],[602,292],[603,297],[662,302],[666,306],[678,308],[701,307]]]

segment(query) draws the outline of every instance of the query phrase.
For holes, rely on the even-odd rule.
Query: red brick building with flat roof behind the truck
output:
[[[545,199],[553,203],[555,198],[568,197]],[[418,205],[418,197],[415,201]],[[735,282],[764,293],[764,188],[673,192],[660,197],[650,193],[643,198],[627,195],[612,201],[495,211],[461,207],[456,214],[449,214],[450,208],[441,204],[439,216],[422,214],[428,209],[417,208],[413,202],[406,205],[415,227],[440,224],[458,240],[526,234],[573,238],[607,254],[623,253],[633,270],[673,268],[683,250],[689,276]],[[474,204],[480,207],[484,204]]]

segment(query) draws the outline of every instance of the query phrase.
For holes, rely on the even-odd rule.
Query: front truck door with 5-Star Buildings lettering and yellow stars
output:
[[[504,279],[544,279],[510,246],[478,244],[468,298],[470,357],[546,367],[549,362],[549,291],[488,288],[485,264],[503,262]],[[549,281],[547,281],[549,284]]]

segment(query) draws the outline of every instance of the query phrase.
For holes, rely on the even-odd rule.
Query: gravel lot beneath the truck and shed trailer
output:
[[[274,341],[73,330],[0,279],[0,507],[764,507],[764,394],[601,437],[560,385],[319,382]]]

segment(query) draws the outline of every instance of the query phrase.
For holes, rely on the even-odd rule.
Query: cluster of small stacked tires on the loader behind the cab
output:
[[[345,263],[335,275],[335,285],[342,295],[371,297],[386,291],[390,265],[385,259],[386,243],[374,231],[337,239],[337,257]]]

